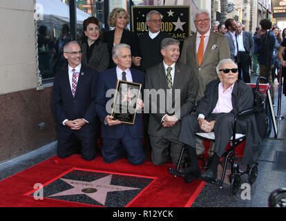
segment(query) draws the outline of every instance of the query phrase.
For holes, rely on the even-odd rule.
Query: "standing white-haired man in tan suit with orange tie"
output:
[[[196,79],[199,81],[198,96],[196,101],[204,96],[204,90],[210,81],[217,79],[216,66],[222,59],[229,58],[229,43],[227,38],[219,33],[211,32],[210,17],[207,10],[199,10],[194,21],[197,32],[184,40],[180,62],[193,68]],[[201,64],[198,62],[198,49],[200,40],[204,36],[204,52]],[[204,153],[204,146],[198,140],[197,154]]]

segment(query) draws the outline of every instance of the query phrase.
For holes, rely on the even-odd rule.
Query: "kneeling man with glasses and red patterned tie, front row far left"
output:
[[[93,160],[95,142],[94,99],[98,73],[82,66],[82,50],[76,41],[64,46],[68,67],[55,75],[53,111],[57,120],[57,155],[61,158],[78,153],[82,144],[84,160]]]

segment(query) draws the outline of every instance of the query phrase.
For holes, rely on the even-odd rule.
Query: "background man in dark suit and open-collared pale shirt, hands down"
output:
[[[238,79],[241,79],[241,72],[243,81],[250,83],[249,67],[251,65],[251,58],[254,54],[254,39],[251,32],[242,31],[242,23],[236,22],[236,41],[238,43]]]

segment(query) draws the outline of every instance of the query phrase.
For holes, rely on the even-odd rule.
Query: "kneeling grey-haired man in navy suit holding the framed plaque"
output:
[[[117,66],[99,74],[96,90],[95,110],[102,121],[102,156],[104,162],[115,162],[122,156],[122,147],[127,159],[133,165],[144,162],[142,114],[137,113],[135,123],[123,124],[114,120],[111,114],[113,95],[117,79],[144,84],[144,73],[131,67],[131,50],[127,44],[113,46],[113,61]],[[136,110],[144,107],[142,99],[137,99]],[[122,144],[122,146],[121,146]]]

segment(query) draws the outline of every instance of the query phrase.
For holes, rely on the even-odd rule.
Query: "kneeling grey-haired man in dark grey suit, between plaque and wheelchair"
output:
[[[171,157],[172,164],[177,165],[182,146],[170,140],[177,140],[181,117],[195,106],[198,81],[191,67],[177,62],[180,56],[178,40],[163,39],[161,54],[164,60],[146,71],[145,90],[150,91],[149,96],[144,91],[144,112],[146,107],[150,108],[148,133],[153,164],[165,164]]]

